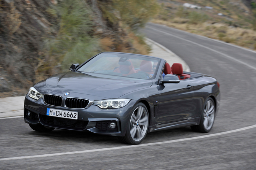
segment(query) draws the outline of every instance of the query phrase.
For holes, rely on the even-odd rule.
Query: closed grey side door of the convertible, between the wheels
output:
[[[181,80],[177,84],[159,84],[157,124],[189,119],[191,117],[190,108],[194,99],[193,89],[190,80]]]

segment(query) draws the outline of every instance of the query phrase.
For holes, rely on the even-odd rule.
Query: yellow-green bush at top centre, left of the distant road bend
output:
[[[122,21],[131,30],[138,30],[159,11],[156,0],[105,0],[98,1],[103,17],[117,25]]]

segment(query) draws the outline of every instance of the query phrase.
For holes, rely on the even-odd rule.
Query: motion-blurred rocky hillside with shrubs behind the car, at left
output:
[[[156,0],[0,0],[0,97],[102,51],[148,54],[137,30]]]

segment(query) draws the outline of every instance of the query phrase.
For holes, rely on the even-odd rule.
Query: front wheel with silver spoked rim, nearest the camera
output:
[[[138,145],[143,141],[149,129],[149,113],[143,103],[134,106],[124,137],[118,139],[127,144]]]

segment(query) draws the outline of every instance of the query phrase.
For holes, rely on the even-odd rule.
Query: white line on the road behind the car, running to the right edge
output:
[[[181,39],[181,40],[190,42],[190,43],[192,43],[192,44],[196,44],[196,45],[198,45],[198,46],[200,46],[200,47],[209,49],[209,50],[214,51],[214,52],[216,52],[216,53],[218,53],[218,54],[221,54],[222,56],[225,56],[225,57],[227,57],[227,58],[229,58],[229,59],[232,59],[232,60],[234,60],[234,61],[236,61],[236,62],[238,62],[238,63],[240,63],[240,64],[246,65],[247,67],[250,67],[250,68],[256,70],[256,67],[253,67],[253,66],[250,65],[250,64],[247,64],[247,63],[245,63],[245,62],[243,62],[243,61],[241,61],[241,60],[235,59],[234,57],[228,56],[227,54],[224,54],[224,53],[222,53],[222,52],[219,52],[219,51],[217,51],[217,50],[215,50],[215,49],[212,49],[212,48],[209,48],[209,47],[207,47],[207,46],[204,46],[204,45],[195,43],[195,42],[190,41],[190,40],[186,40],[185,38],[181,38],[181,37],[178,37],[178,36],[176,36],[176,35],[173,35],[173,34],[170,34],[170,33],[164,32],[164,31],[160,31],[160,30],[157,30],[157,29],[154,29],[154,28],[150,28],[150,29],[155,30],[155,31],[158,31],[158,32],[162,32],[162,33],[167,34],[167,35],[170,35],[170,36],[172,36],[172,37],[179,38],[179,39]]]

